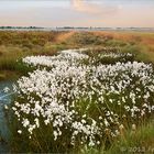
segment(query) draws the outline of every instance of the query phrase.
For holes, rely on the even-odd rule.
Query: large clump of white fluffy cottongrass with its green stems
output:
[[[23,58],[36,70],[18,80],[18,97],[9,109],[13,152],[78,152],[81,146],[107,151],[123,129],[151,120],[153,66],[128,62],[131,54],[91,58],[84,52]],[[95,63],[102,57],[125,62]]]

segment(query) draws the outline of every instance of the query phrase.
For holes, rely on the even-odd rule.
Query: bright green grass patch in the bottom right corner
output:
[[[125,131],[107,153],[154,153],[153,128],[152,121],[141,124],[136,130]]]

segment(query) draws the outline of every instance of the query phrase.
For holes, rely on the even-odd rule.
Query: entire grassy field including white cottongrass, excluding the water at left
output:
[[[0,32],[10,152],[153,153],[153,63],[150,32]]]

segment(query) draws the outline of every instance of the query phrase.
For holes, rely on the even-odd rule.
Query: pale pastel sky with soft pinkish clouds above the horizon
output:
[[[0,26],[154,28],[154,0],[0,0]]]

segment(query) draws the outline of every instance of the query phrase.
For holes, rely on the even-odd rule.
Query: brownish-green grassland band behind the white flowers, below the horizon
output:
[[[78,47],[112,47],[136,54],[138,61],[154,62],[153,33],[116,34],[120,36],[116,37],[113,32],[75,32],[72,35],[69,32],[0,32],[0,70],[15,70],[16,59],[26,55],[54,55],[62,50]],[[128,35],[130,38],[124,40]]]

